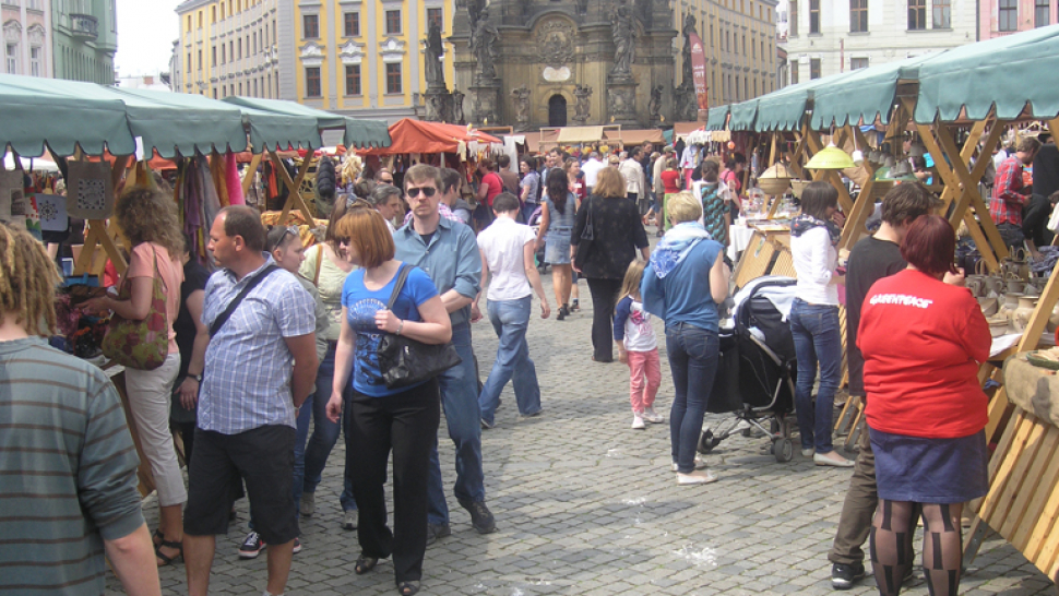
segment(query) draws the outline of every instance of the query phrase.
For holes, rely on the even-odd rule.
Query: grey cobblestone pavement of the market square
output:
[[[550,287],[547,275],[549,297]],[[678,487],[669,470],[668,425],[630,429],[628,369],[617,361],[590,359],[592,305],[584,282],[581,302],[582,311],[567,321],[552,315],[547,321],[536,318],[530,325],[544,414],[520,419],[509,384],[497,427],[483,431],[486,492],[497,517],[496,534],[476,534],[452,497],[452,442],[442,428],[452,536],[427,549],[421,594],[832,592],[826,553],[849,472],[816,467],[798,453],[795,461],[778,464],[762,450],[765,439],[737,436],[707,456],[717,482]],[[534,310],[539,312],[536,306]],[[655,324],[662,338],[662,324]],[[497,341],[484,321],[474,326],[474,334],[485,378]],[[662,350],[657,409],[667,414],[673,383],[664,345]],[[706,421],[716,425],[721,419],[707,415]],[[353,572],[359,553],[356,533],[338,527],[343,443],[340,440],[332,453],[318,489],[316,515],[301,520],[305,550],[295,556],[288,594],[396,594],[389,561],[367,575]],[[145,511],[153,528],[153,501]],[[211,588],[214,594],[259,595],[265,557],[238,559],[248,520],[246,501],[238,512],[239,522],[218,537]],[[917,552],[919,544],[917,538]],[[163,569],[162,582],[167,594],[186,593],[183,564]],[[1048,594],[1050,585],[1014,548],[993,537],[983,546],[961,589],[971,595],[1028,595]],[[112,577],[109,586],[119,593]],[[870,575],[848,592],[876,593]],[[927,594],[918,565],[905,594]]]

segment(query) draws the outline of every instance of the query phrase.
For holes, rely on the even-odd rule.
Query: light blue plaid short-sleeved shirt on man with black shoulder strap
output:
[[[269,264],[240,281],[228,270],[206,282],[202,322],[210,326],[246,285]],[[290,379],[294,357],[285,337],[312,333],[316,303],[298,279],[274,271],[236,308],[210,339],[202,389],[199,428],[237,434],[269,425],[295,428]]]

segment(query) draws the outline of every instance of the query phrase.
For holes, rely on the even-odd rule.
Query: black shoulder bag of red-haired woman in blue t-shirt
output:
[[[410,265],[401,265],[386,310],[393,310],[410,270]],[[378,358],[379,370],[382,371],[382,380],[388,389],[401,389],[428,381],[463,361],[451,342],[424,344],[393,333],[382,336]]]

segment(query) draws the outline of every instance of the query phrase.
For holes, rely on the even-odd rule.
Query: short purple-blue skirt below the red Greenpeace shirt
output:
[[[986,431],[960,439],[925,439],[870,429],[879,498],[963,503],[989,490]]]

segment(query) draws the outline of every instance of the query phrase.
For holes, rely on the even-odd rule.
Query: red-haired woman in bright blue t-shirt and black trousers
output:
[[[334,386],[328,417],[338,421],[342,394],[353,385],[346,412],[346,469],[356,478],[360,557],[354,571],[371,571],[393,556],[397,591],[419,591],[427,549],[427,469],[441,420],[435,379],[397,390],[386,389],[379,370],[379,342],[386,333],[425,344],[452,338],[449,313],[438,288],[419,269],[408,272],[393,310],[386,303],[397,273],[412,266],[394,260],[393,237],[379,212],[355,206],[335,224],[343,258],[362,269],[346,278],[342,291],[342,332],[335,348]],[[393,523],[386,526],[383,485],[393,451]]]

